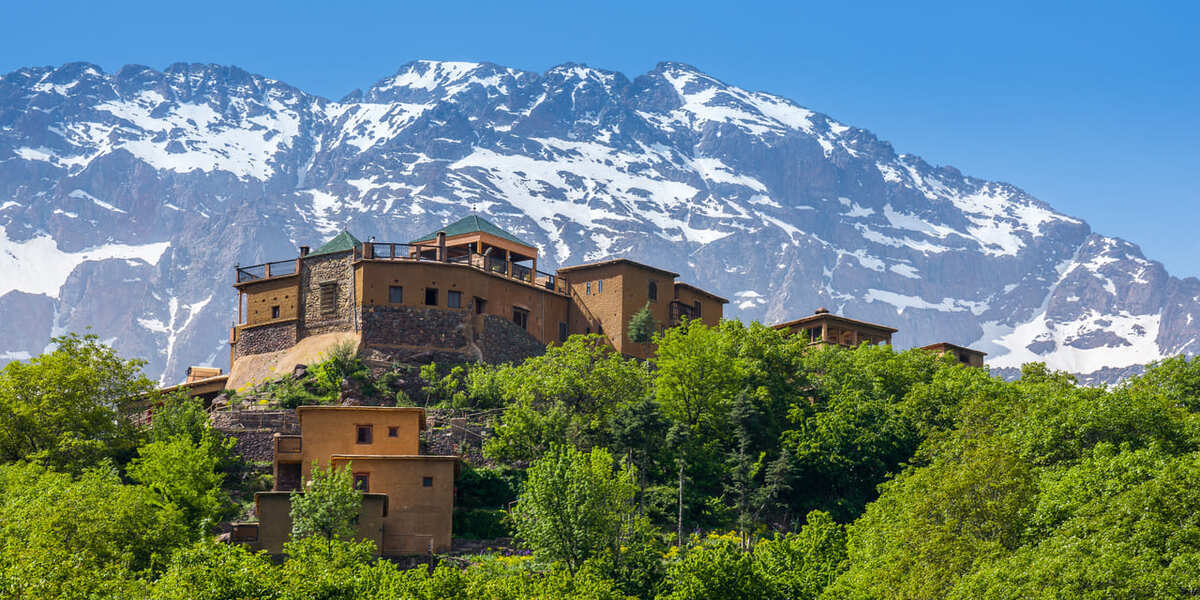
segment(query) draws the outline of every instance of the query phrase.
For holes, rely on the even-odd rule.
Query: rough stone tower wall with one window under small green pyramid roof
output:
[[[350,265],[353,254],[322,254],[306,257],[300,266],[300,337],[347,331],[354,326],[354,278]],[[334,311],[320,306],[320,284],[337,283],[337,304]]]

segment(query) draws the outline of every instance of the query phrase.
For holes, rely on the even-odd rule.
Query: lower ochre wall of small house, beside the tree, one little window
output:
[[[433,552],[450,550],[454,522],[454,456],[335,456],[335,468],[352,466],[366,474],[371,493],[388,494],[383,520],[384,554],[425,553],[428,539]],[[424,479],[432,478],[425,487]]]

